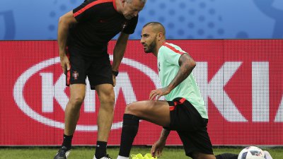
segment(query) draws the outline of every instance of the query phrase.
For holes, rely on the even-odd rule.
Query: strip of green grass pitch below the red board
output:
[[[243,147],[214,147],[214,154],[219,153],[236,153],[238,154]],[[262,148],[262,147],[260,147]],[[131,154],[146,154],[150,152],[151,147],[148,146],[134,146]],[[272,155],[273,159],[283,158],[283,148],[262,148],[267,150]],[[54,147],[1,147],[0,159],[52,159],[57,153],[58,148]],[[92,159],[94,154],[94,147],[80,147],[75,146],[69,155],[68,159]],[[118,155],[118,147],[108,147],[108,153],[111,158],[116,159]],[[163,155],[160,159],[189,159],[185,156],[185,152],[182,147],[167,146],[163,150]]]

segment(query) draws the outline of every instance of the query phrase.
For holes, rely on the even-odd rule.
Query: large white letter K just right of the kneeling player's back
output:
[[[207,99],[210,98],[217,110],[229,122],[247,122],[247,119],[238,111],[236,105],[224,91],[224,86],[239,66],[241,66],[241,62],[224,63],[209,83],[207,81],[207,63],[197,62],[197,66],[193,71],[196,82],[202,91],[206,107]]]

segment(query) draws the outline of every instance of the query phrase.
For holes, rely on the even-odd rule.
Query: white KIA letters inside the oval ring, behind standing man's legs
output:
[[[64,93],[64,79],[62,76],[53,86],[53,73],[40,73],[42,76],[42,112],[53,112],[54,110],[54,98],[59,102],[62,110],[66,109],[68,102],[68,97]],[[120,73],[116,78],[117,85],[115,86],[115,100],[117,100],[120,90],[125,97],[125,102],[127,104],[131,102],[136,102],[137,98],[135,96],[134,90],[132,88],[132,83],[129,80],[129,75],[127,73]],[[55,93],[54,93],[55,92]],[[91,90],[88,79],[86,80],[86,98],[84,100],[84,112],[96,112],[96,91]]]

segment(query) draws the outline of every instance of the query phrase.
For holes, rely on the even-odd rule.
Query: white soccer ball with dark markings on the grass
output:
[[[243,148],[238,155],[238,159],[265,159],[265,152],[258,147],[249,146]]]

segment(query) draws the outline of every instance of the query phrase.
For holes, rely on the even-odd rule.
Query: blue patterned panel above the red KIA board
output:
[[[55,40],[59,17],[82,2],[1,0],[0,40]],[[163,23],[168,39],[281,39],[282,17],[282,0],[147,0],[130,39],[150,21]]]

